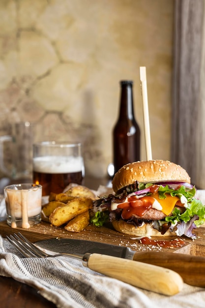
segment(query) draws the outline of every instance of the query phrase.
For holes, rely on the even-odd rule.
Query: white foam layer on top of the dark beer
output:
[[[81,172],[84,168],[81,156],[40,156],[33,158],[33,171],[42,173]]]

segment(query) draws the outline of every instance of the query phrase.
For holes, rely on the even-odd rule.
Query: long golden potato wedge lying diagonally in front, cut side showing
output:
[[[54,226],[59,227],[91,208],[92,200],[90,198],[74,198],[68,201],[65,206],[56,208],[49,216],[49,221]]]

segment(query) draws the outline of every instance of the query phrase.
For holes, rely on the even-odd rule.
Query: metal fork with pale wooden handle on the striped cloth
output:
[[[82,256],[69,253],[51,255],[29,242],[20,232],[6,236],[6,238],[24,257],[47,258],[67,256],[80,259],[85,267],[95,272],[117,278],[149,291],[174,295],[183,286],[183,280],[177,273],[159,266],[98,253],[85,253]]]

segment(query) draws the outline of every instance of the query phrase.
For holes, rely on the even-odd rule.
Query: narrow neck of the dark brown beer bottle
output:
[[[132,82],[121,82],[119,119],[134,119]]]

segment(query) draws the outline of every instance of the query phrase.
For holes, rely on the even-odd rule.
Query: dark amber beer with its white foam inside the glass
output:
[[[60,193],[70,183],[81,185],[82,157],[41,156],[33,158],[33,183],[42,185],[42,195]]]

